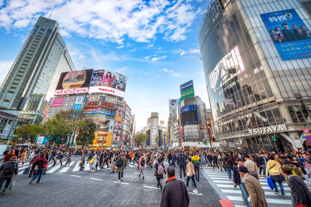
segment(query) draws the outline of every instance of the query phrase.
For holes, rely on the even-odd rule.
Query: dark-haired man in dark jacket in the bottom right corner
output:
[[[291,167],[282,166],[281,170],[282,174],[289,180],[293,206],[311,206],[311,194],[304,182],[293,175]]]

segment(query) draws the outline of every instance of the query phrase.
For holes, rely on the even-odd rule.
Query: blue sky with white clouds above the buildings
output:
[[[115,71],[129,77],[126,100],[136,130],[151,112],[167,123],[168,99],[194,80],[208,104],[198,29],[210,0],[0,0],[0,82],[39,16],[56,20],[77,70]]]

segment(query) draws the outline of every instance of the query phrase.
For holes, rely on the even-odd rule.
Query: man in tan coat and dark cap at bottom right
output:
[[[252,207],[268,207],[265,192],[262,189],[259,180],[248,174],[247,168],[243,165],[239,166],[239,174],[244,178],[245,187],[247,193],[250,195]]]

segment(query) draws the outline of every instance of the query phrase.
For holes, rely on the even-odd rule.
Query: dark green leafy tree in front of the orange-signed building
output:
[[[92,144],[95,138],[96,124],[90,120],[81,121],[79,125],[79,133],[76,139],[76,144],[84,145]]]

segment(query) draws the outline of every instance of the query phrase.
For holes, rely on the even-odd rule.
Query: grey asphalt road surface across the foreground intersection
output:
[[[21,169],[14,189],[0,195],[0,206],[160,206],[162,192],[156,188],[154,168],[145,167],[145,179],[142,180],[138,177],[137,167],[129,166],[123,182],[118,183],[118,175],[111,174],[110,169],[74,171],[79,159],[79,156],[73,156],[74,163],[70,168],[66,167],[68,169],[64,168],[64,163],[58,168],[56,164],[56,169],[49,166],[50,173],[43,175],[38,184],[29,185],[30,178],[22,175]],[[175,170],[179,178],[179,167]],[[200,182],[197,182],[199,194],[190,194],[190,206],[221,206],[219,195],[200,174]],[[163,185],[165,181],[166,177],[162,180]],[[189,192],[192,190],[190,184]]]

